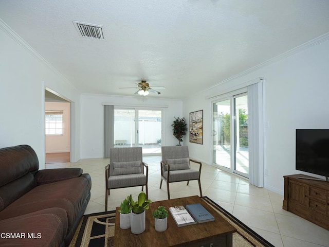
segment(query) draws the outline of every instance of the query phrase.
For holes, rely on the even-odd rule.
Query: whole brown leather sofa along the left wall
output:
[[[90,199],[80,168],[39,170],[28,145],[0,149],[0,246],[67,246]]]

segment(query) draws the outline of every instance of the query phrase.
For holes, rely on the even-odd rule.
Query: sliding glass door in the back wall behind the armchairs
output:
[[[161,110],[114,109],[114,147],[142,147],[143,154],[161,153],[161,134]]]

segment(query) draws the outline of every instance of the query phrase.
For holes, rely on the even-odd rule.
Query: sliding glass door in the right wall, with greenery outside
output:
[[[249,177],[247,93],[213,102],[213,163]]]

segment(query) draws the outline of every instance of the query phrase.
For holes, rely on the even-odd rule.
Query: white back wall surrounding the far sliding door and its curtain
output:
[[[164,116],[162,145],[177,144],[173,136],[171,124],[174,117],[182,116],[182,101],[168,100],[158,97],[120,97],[107,95],[81,95],[81,158],[103,157],[103,104],[120,105],[120,107],[136,106],[138,108],[162,108]]]

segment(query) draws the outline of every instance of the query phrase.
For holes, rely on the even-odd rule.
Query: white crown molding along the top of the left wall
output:
[[[5,23],[0,18],[0,29],[2,29],[11,39],[13,39],[17,44],[21,45],[25,50],[27,50],[32,56],[43,62],[48,68],[50,68],[55,74],[57,74],[63,81],[68,83],[74,89],[77,89],[69,80],[67,80],[54,66],[52,66],[46,59],[44,59],[36,50],[34,50],[19,34],[12,30],[7,23]],[[78,91],[79,92],[79,91]]]

